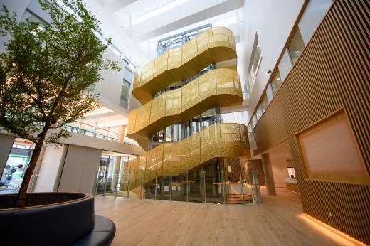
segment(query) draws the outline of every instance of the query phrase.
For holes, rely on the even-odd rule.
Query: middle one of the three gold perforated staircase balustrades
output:
[[[148,148],[148,139],[165,127],[185,122],[218,105],[243,102],[240,77],[235,70],[210,70],[177,90],[164,92],[129,112],[127,137]]]

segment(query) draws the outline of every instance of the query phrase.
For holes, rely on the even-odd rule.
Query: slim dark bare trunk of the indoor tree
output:
[[[30,160],[30,164],[28,165],[26,173],[23,176],[22,185],[21,185],[21,188],[19,189],[18,196],[15,200],[15,207],[16,208],[21,208],[21,207],[24,207],[24,206],[27,205],[26,204],[26,202],[27,202],[26,196],[27,196],[28,185],[31,181],[33,170],[36,167],[38,157],[40,156],[41,148],[43,146],[43,140],[45,139],[46,132],[47,132],[47,130],[45,132],[44,131],[41,132],[41,136],[39,137],[38,142],[36,143],[35,149],[33,150],[33,154],[32,154],[31,160]]]

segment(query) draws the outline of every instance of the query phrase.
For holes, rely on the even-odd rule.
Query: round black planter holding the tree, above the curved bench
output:
[[[0,196],[0,203],[12,196],[16,195]],[[53,204],[0,209],[0,245],[72,245],[94,229],[93,196],[29,193],[27,200]]]

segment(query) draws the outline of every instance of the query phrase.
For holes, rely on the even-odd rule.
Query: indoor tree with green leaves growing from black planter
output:
[[[51,23],[17,22],[5,6],[0,16],[0,126],[35,144],[16,199],[26,191],[44,143],[68,137],[65,124],[96,107],[94,85],[102,69],[120,70],[103,58],[111,40],[99,38],[100,23],[82,0],[39,0]],[[50,131],[49,131],[50,130]]]

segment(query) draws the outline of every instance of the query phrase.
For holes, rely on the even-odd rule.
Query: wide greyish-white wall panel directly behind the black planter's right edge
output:
[[[68,146],[58,191],[92,193],[102,151]]]

